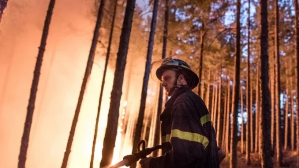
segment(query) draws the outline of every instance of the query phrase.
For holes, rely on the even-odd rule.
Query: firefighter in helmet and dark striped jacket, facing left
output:
[[[205,103],[192,91],[199,81],[197,75],[187,63],[172,58],[153,62],[150,75],[170,96],[160,120],[161,141],[171,145],[162,149],[160,157],[142,159],[141,167],[219,168],[225,153],[217,147]]]

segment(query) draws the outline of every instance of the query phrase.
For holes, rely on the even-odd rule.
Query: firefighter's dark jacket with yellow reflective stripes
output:
[[[150,160],[150,168],[219,168],[210,114],[188,86],[176,88],[160,120],[162,143],[171,145],[162,149],[163,156]]]

